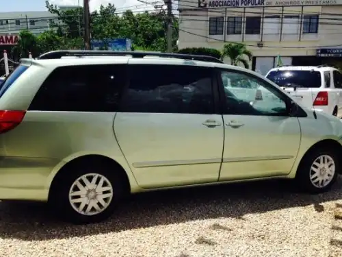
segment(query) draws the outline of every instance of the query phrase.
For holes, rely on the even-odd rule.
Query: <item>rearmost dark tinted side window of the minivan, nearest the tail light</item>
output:
[[[125,69],[121,64],[57,68],[42,84],[29,110],[116,112]]]

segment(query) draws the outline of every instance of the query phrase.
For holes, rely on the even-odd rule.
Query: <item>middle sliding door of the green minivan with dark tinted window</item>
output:
[[[217,182],[224,126],[214,109],[213,69],[133,59],[129,74],[114,131],[137,183],[155,188]]]

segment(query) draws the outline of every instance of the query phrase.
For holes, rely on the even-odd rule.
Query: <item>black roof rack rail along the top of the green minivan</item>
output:
[[[43,53],[37,59],[60,59],[64,56],[132,56],[133,58],[144,58],[145,56],[158,56],[166,58],[177,58],[185,60],[197,60],[203,62],[223,63],[218,58],[211,56],[195,56],[182,53],[158,53],[158,52],[143,52],[143,51],[105,51],[105,50],[58,50]]]

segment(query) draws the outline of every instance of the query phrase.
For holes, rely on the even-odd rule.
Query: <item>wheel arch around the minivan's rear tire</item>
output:
[[[113,169],[113,172],[117,172],[120,176],[120,179],[124,183],[124,193],[129,195],[131,193],[131,180],[129,175],[127,174],[126,170],[122,165],[117,162],[116,160],[109,158],[108,156],[103,156],[99,154],[86,154],[83,156],[77,156],[71,160],[64,161],[60,164],[56,171],[51,174],[50,182],[49,182],[49,195],[48,199],[51,197],[51,192],[53,191],[54,186],[60,181],[66,172],[73,167],[79,165],[87,165],[87,164],[94,164],[94,163],[101,163],[102,165],[105,164],[106,167],[110,167]],[[115,171],[114,171],[115,170]]]

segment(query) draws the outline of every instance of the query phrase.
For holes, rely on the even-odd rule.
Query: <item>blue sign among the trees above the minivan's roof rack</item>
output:
[[[93,50],[105,49],[107,45],[107,50],[109,51],[131,51],[132,41],[129,38],[114,38],[108,40],[90,40]]]

